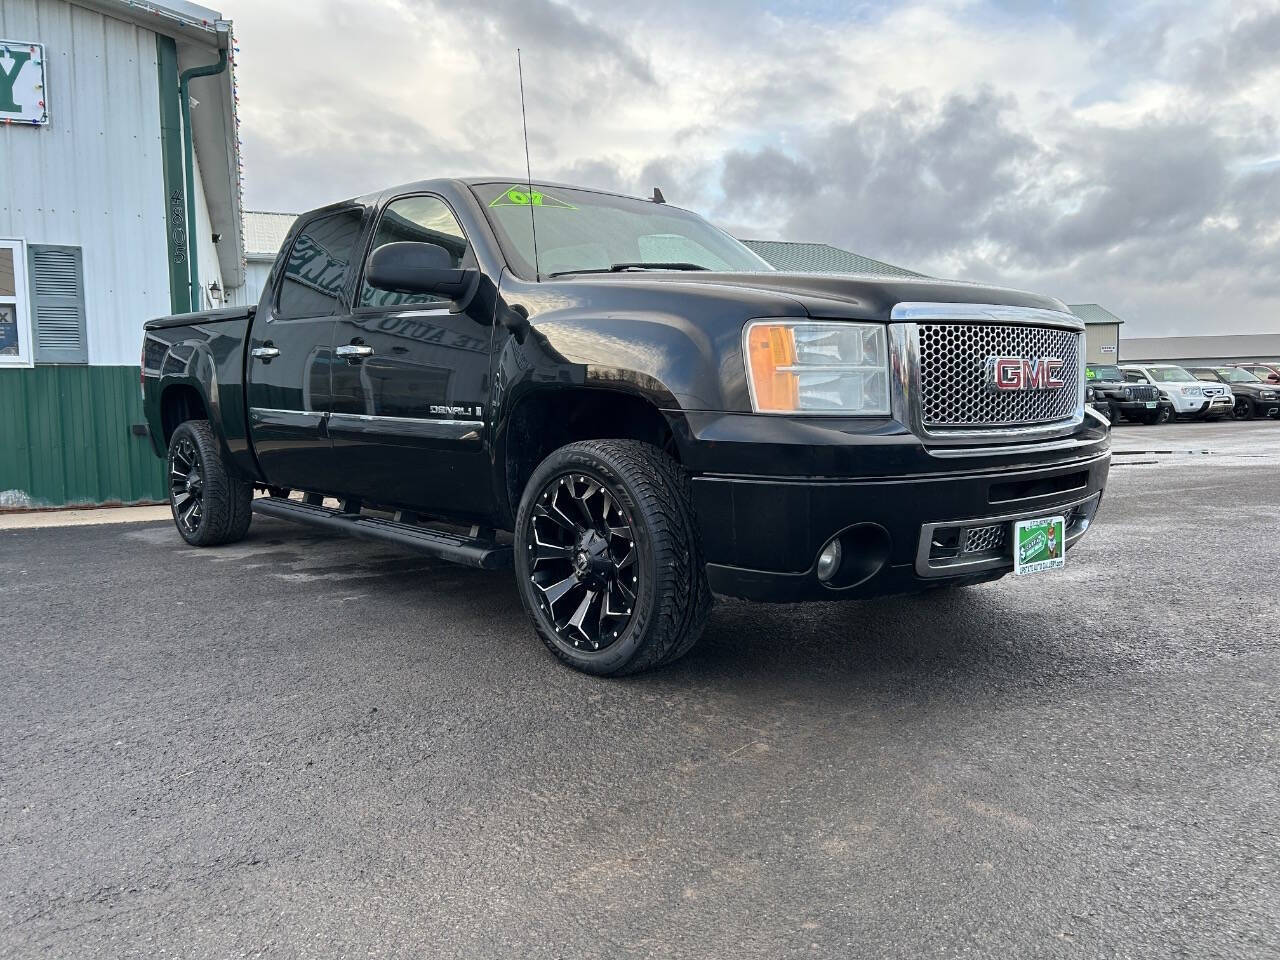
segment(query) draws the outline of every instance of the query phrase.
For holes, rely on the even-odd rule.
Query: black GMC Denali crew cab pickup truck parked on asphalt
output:
[[[1110,465],[1083,347],[1057,300],[778,273],[657,192],[449,179],[298,218],[259,306],[147,323],[142,375],[188,543],[261,513],[513,567],[613,675],[713,593],[1060,564]]]

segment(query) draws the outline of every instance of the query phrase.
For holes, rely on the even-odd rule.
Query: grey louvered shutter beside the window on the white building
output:
[[[31,315],[37,364],[87,364],[84,265],[79,247],[32,243]]]

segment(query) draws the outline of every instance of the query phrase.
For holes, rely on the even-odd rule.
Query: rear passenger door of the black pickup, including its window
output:
[[[333,334],[346,311],[365,210],[319,214],[296,233],[274,296],[253,317],[248,422],[275,486],[344,493],[335,485],[324,419],[333,406]]]

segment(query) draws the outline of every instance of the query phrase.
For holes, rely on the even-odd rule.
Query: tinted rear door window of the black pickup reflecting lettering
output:
[[[361,211],[343,210],[312,220],[294,238],[280,282],[275,315],[280,320],[333,316],[360,239]]]

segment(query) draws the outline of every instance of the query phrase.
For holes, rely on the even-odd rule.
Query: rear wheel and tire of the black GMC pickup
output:
[[[169,508],[182,539],[216,547],[244,538],[253,520],[253,486],[233,476],[207,420],[187,420],[169,438]]]

